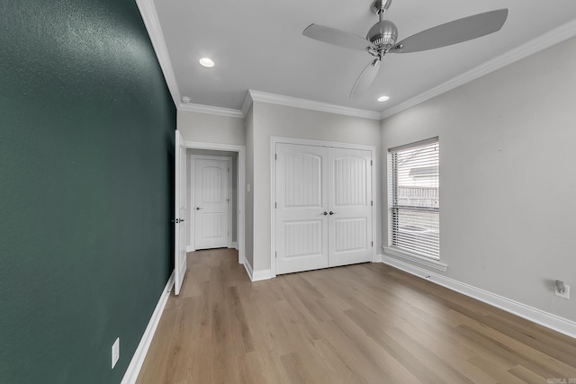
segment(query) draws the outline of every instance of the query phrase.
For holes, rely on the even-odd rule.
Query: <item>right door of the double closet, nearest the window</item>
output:
[[[372,261],[372,170],[366,150],[329,149],[329,266]]]

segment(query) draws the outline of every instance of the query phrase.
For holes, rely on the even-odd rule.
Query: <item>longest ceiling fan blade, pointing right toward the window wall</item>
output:
[[[474,14],[421,31],[396,43],[390,51],[392,53],[419,52],[473,40],[500,31],[507,18],[508,9]]]

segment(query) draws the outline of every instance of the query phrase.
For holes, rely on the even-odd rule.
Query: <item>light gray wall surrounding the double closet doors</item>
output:
[[[370,145],[376,147],[376,156],[380,156],[381,125],[380,121],[260,102],[253,103],[251,120],[252,123],[247,125],[247,133],[249,133],[247,147],[250,145],[248,142],[253,142],[251,150],[254,153],[254,169],[253,174],[250,175],[254,179],[252,198],[255,204],[252,223],[254,240],[252,266],[255,271],[265,271],[270,269],[270,238],[272,236],[270,228],[270,138],[272,136],[307,138]],[[379,157],[376,158],[376,164],[378,160]],[[252,166],[247,166],[248,168],[251,169]],[[378,176],[376,178],[378,179]],[[380,181],[374,180],[374,183],[379,185]],[[374,201],[380,200],[380,196],[374,196]],[[382,219],[378,207],[375,211],[378,212],[379,233]],[[379,241],[374,243],[376,246],[380,244]]]

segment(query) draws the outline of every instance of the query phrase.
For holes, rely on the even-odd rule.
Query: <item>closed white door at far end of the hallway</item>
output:
[[[194,159],[194,247],[229,246],[229,159]]]

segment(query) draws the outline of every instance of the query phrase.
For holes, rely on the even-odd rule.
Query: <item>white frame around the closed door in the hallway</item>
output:
[[[196,210],[193,210],[193,207],[195,206],[194,200],[196,197],[196,189],[195,189],[195,161],[198,159],[204,159],[204,160],[225,160],[228,161],[228,167],[231,168],[232,167],[232,157],[231,156],[209,156],[209,155],[191,155],[190,156],[190,167],[192,168],[189,172],[190,175],[190,227],[188,228],[188,233],[190,236],[190,246],[193,248],[193,250],[196,250],[196,233],[195,233],[195,228],[194,225],[196,223]],[[237,182],[238,183],[238,182]],[[237,186],[237,191],[238,191],[238,186]],[[237,193],[238,195],[238,193]],[[229,199],[232,198],[232,173],[228,172],[228,197]],[[236,198],[238,199],[238,196],[236,196]],[[238,201],[236,202],[237,204],[237,208],[238,208]],[[228,204],[228,222],[226,223],[226,226],[228,228],[228,237],[227,237],[227,246],[229,248],[233,248],[232,246],[232,202],[229,201]],[[236,237],[238,237],[238,227],[237,229],[237,234]]]

